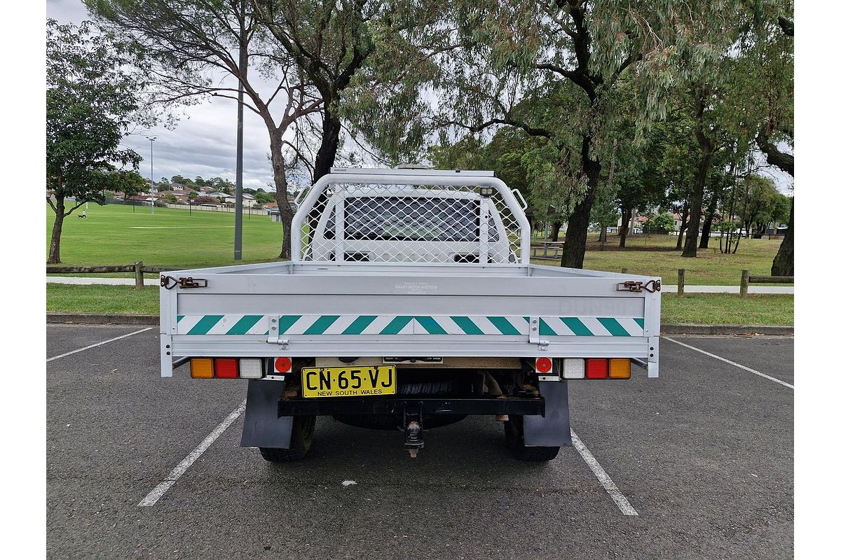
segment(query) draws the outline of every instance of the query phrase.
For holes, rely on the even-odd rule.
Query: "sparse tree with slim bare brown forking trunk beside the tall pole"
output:
[[[236,100],[242,86],[244,107],[257,114],[267,129],[275,200],[283,221],[280,257],[288,258],[293,212],[287,175],[306,160],[297,127],[325,105],[294,57],[278,48],[246,0],[85,3],[106,29],[132,40],[145,53],[145,69],[155,86],[154,103],[190,104],[210,97]]]

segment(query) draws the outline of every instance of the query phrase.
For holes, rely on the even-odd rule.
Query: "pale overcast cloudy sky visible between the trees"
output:
[[[47,0],[47,17],[55,18],[61,24],[71,22],[79,24],[89,19],[87,8],[81,0]],[[230,87],[235,86],[230,76],[225,82]],[[172,175],[184,175],[191,178],[201,175],[205,179],[222,177],[235,181],[236,102],[217,98],[187,107],[185,113],[186,116],[181,118],[174,130],[157,127],[124,139],[123,144],[135,149],[144,159],[140,163],[141,175],[148,177],[151,171],[151,143],[146,137],[156,137],[154,143],[156,181],[160,181],[161,177],[172,177]],[[243,185],[253,189],[258,187],[273,189],[266,125],[248,109],[244,114]],[[762,157],[761,154],[759,156]],[[793,181],[789,175],[776,167],[770,167],[760,173],[772,177],[780,192],[791,194]]]

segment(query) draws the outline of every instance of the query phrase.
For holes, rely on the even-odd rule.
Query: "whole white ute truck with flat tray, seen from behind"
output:
[[[551,460],[570,383],[658,376],[660,279],[529,264],[525,207],[492,171],[334,168],[291,261],[161,275],[161,375],[248,379],[241,445],[268,461],[304,458],[318,416],[415,457],[471,414]]]

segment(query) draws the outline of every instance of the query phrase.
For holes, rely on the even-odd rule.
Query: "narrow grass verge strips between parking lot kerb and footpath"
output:
[[[664,294],[663,322],[732,325],[791,325],[794,296]],[[158,290],[127,285],[47,284],[47,311],[77,313],[158,312]]]

